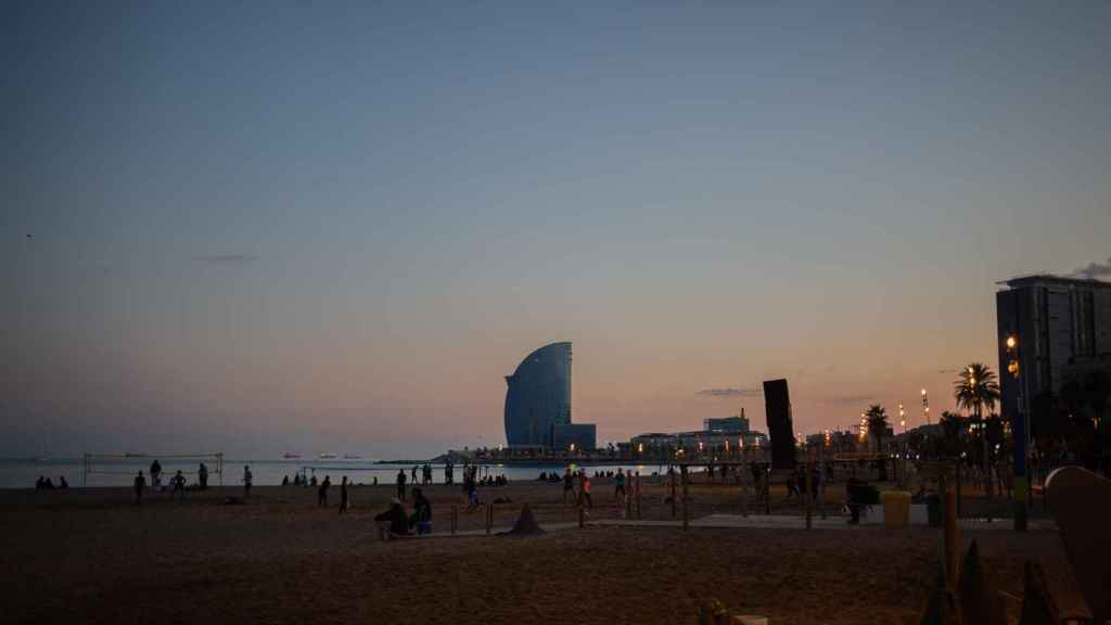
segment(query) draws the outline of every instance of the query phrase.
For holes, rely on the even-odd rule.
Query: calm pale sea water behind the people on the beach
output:
[[[100,459],[93,463],[88,475],[84,473],[84,462],[82,458],[50,458],[50,459],[0,459],[0,488],[33,488],[34,480],[39,476],[49,477],[54,485],[59,484],[59,477],[64,476],[70,487],[79,487],[82,484],[92,486],[130,486],[136,473],[140,469],[150,479],[149,470],[153,457],[148,458],[118,458]],[[186,474],[189,483],[197,480],[198,464],[200,458],[173,459],[159,458],[162,465],[163,479],[181,469]],[[217,463],[213,458],[204,458],[204,464],[209,469],[209,485],[219,485],[221,476],[217,475]],[[331,476],[333,483],[339,483],[342,476],[356,484],[371,484],[378,477],[379,484],[393,484],[397,479],[398,470],[404,469],[406,476],[410,476],[412,465],[389,465],[376,464],[372,460],[348,460],[348,459],[281,459],[281,460],[257,460],[257,459],[224,459],[223,462],[223,485],[237,486],[242,484],[243,465],[250,465],[256,486],[277,486],[281,484],[283,477],[289,477],[290,482],[298,473],[304,475],[316,474],[318,479],[323,479],[326,475]],[[540,472],[563,473],[565,464],[552,464],[544,466],[499,466],[489,465],[483,467],[482,475],[489,472],[492,476],[503,475],[512,482],[533,480]],[[652,472],[660,470],[658,465],[604,465],[589,466],[587,470],[613,470],[618,467],[627,472],[639,470],[642,476],[649,476]],[[436,484],[443,484],[443,465],[432,465],[432,480]],[[665,468],[663,470],[667,470]],[[417,470],[420,479],[421,472]],[[462,480],[462,467],[456,466],[456,483]]]

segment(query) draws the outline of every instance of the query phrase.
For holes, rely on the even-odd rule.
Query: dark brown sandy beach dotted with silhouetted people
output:
[[[334,476],[333,476],[334,478]],[[373,514],[392,486],[351,489],[352,509],[317,507],[316,490],[256,487],[191,492],[186,500],[123,488],[0,492],[4,623],[694,623],[717,598],[771,623],[917,623],[937,575],[940,532],[618,527],[612,488],[598,480],[587,527],[556,484],[486,488],[494,528],[529,502],[534,537],[484,535],[484,514],[459,513],[458,486],[426,489],[433,538],[379,542]],[[831,498],[838,489],[831,488]],[[642,515],[671,519],[665,487],[645,484]],[[777,502],[782,498],[775,494]],[[739,513],[739,492],[695,485],[691,518]],[[834,515],[838,504],[830,504]],[[799,514],[778,504],[777,514]],[[1055,529],[965,530],[1003,591],[1021,596],[1035,558],[1063,607],[1079,594]],[[1012,617],[1019,603],[1008,601]],[[1074,611],[1073,611],[1074,612]]]

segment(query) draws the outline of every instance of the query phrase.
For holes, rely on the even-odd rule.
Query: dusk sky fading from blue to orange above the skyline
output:
[[[604,4],[604,6],[600,6]],[[4,2],[0,455],[951,409],[1111,264],[1107,2]]]

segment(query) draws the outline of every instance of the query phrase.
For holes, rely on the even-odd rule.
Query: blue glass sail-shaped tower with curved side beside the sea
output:
[[[510,448],[593,449],[593,425],[571,427],[571,344],[553,343],[529,354],[506,376],[506,442]],[[565,443],[565,445],[564,445]]]

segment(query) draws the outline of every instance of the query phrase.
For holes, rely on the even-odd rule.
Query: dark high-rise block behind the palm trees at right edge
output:
[[[1069,366],[1111,367],[1111,282],[1029,276],[1003,284],[995,294],[1003,415],[1059,393]]]

